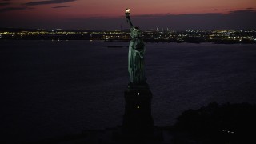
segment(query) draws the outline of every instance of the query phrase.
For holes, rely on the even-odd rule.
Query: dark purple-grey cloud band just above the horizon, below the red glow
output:
[[[168,27],[169,30],[255,30],[255,15],[256,10],[236,10],[226,14],[131,14],[130,18],[134,26],[139,26],[142,30],[155,30],[156,27],[163,27],[164,29]],[[54,18],[49,21],[41,18],[24,21],[24,18],[19,18],[17,15],[10,17],[6,14],[6,21],[0,22],[0,27],[58,27],[90,30],[118,30],[120,25],[124,29],[128,29],[125,15],[111,18],[100,16],[90,18],[65,17]]]

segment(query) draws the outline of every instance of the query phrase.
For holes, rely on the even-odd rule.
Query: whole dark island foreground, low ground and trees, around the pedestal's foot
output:
[[[154,143],[241,144],[255,143],[256,105],[212,102],[198,110],[186,110],[174,126],[155,126],[154,134],[122,134],[122,126],[85,130],[30,143]],[[120,137],[122,135],[122,137]],[[123,139],[122,139],[123,138]]]

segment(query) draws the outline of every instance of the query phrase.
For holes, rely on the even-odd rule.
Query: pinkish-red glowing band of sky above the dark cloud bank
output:
[[[18,0],[10,2],[15,6],[20,3]],[[69,6],[66,8],[52,8],[54,6]],[[12,6],[13,7],[13,6]],[[256,8],[255,0],[140,0],[140,1],[125,1],[118,0],[87,0],[74,1],[66,3],[56,3],[48,5],[27,6],[27,10],[6,11],[2,14],[21,14],[23,17],[31,18],[88,18],[88,17],[118,17],[123,15],[123,11],[130,7],[132,15],[143,14],[205,14],[205,13],[222,13],[232,10],[245,10],[246,8]]]

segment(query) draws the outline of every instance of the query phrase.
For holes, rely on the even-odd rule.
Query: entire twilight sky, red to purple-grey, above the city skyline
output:
[[[256,29],[256,0],[0,0],[0,27]]]

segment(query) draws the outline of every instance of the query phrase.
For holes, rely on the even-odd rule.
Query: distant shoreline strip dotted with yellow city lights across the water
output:
[[[1,39],[101,40],[130,41],[129,30],[4,30]],[[149,42],[255,43],[256,30],[145,30],[142,38]]]

